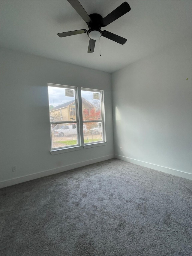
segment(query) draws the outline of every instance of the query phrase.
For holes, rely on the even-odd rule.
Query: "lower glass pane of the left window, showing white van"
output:
[[[52,148],[77,145],[77,123],[51,124]]]

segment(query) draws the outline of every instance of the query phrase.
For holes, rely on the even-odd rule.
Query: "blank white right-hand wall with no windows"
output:
[[[115,156],[190,178],[191,41],[114,72],[112,92]]]

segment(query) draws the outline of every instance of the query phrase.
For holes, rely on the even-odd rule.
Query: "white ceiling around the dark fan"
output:
[[[79,1],[88,14],[105,17],[124,1]],[[124,45],[101,37],[87,53],[87,34],[57,33],[88,29],[65,0],[0,1],[1,47],[84,67],[113,72],[182,38],[191,40],[191,1],[127,1],[131,11],[105,28],[127,38]]]

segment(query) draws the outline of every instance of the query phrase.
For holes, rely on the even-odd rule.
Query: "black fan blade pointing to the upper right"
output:
[[[112,23],[114,20],[117,20],[124,14],[128,13],[131,10],[131,7],[127,2],[122,3],[117,7],[114,11],[112,11],[110,14],[108,14],[105,18],[102,20],[102,27],[105,27]]]

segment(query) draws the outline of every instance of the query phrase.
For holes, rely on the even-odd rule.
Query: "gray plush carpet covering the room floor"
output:
[[[191,256],[187,179],[111,159],[0,194],[2,256]]]

